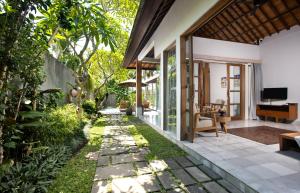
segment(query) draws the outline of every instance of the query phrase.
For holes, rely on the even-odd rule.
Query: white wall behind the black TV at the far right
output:
[[[300,26],[265,38],[260,54],[264,87],[288,87],[288,99],[277,103],[300,104]]]

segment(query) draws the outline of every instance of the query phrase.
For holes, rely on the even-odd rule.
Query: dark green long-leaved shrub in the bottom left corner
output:
[[[17,162],[0,174],[2,193],[44,193],[70,157],[66,147],[51,147]]]

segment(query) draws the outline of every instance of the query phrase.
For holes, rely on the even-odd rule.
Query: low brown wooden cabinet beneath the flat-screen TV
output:
[[[256,115],[263,117],[265,120],[268,117],[275,118],[276,122],[278,122],[279,119],[295,121],[298,119],[298,103],[288,103],[286,105],[256,105]]]

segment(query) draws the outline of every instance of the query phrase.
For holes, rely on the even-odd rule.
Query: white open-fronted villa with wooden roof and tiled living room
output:
[[[136,115],[243,192],[300,192],[300,161],[257,139],[300,132],[299,24],[299,0],[142,0],[123,62]],[[195,115],[220,106],[229,133],[255,136],[198,133]]]

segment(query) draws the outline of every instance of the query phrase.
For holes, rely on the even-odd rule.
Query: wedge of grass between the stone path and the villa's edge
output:
[[[149,147],[151,152],[147,155],[148,160],[186,155],[176,144],[159,134],[149,125],[135,117],[128,117],[128,120],[133,123],[129,126],[129,130],[136,144],[139,147]]]

